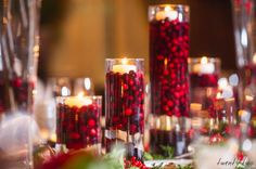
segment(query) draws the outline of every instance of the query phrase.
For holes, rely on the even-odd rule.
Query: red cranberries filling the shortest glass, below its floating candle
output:
[[[82,107],[59,104],[56,110],[57,143],[77,150],[101,142],[100,109],[97,104]]]

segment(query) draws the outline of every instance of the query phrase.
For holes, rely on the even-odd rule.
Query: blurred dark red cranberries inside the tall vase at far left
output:
[[[34,83],[23,80],[20,77],[15,77],[10,80],[10,83],[4,82],[3,78],[0,77],[0,113],[9,110],[11,107],[11,99],[9,89],[13,90],[14,104],[20,110],[27,110],[28,101],[33,100],[31,90],[34,89]]]

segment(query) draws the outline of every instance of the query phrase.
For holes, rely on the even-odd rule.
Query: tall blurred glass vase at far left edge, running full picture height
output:
[[[39,55],[40,0],[0,2],[1,167],[31,168],[33,90]]]

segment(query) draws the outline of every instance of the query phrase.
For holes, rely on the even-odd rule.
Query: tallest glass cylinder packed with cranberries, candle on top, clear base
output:
[[[180,155],[188,144],[183,119],[190,116],[189,8],[153,5],[149,18],[151,112],[156,123],[151,129],[151,148],[165,154],[163,146],[171,146]]]

